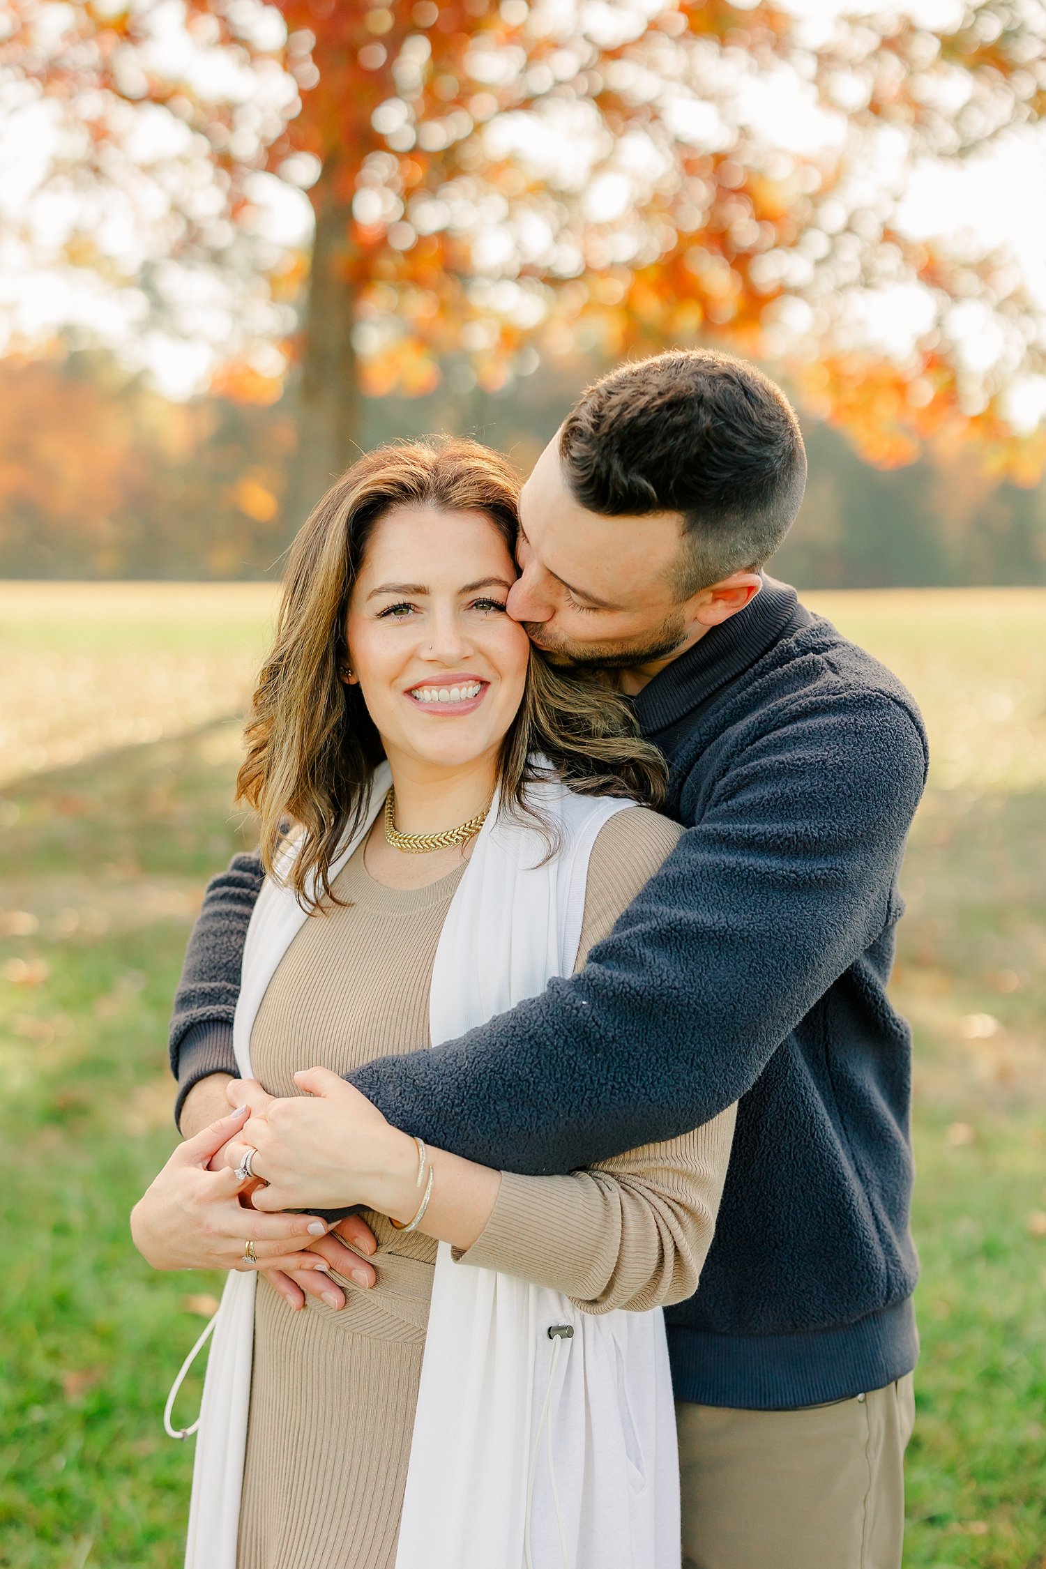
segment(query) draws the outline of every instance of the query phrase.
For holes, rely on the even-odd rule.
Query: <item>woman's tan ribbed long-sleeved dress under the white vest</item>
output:
[[[588,871],[579,965],[674,846],[651,811],[618,813]],[[292,1075],[336,1073],[430,1042],[439,934],[464,868],[411,891],[376,883],[362,850],[336,907],[304,923],[251,1034],[256,1076],[295,1095]],[[491,1219],[463,1255],[565,1291],[579,1307],[656,1307],[692,1294],[718,1210],[734,1109],[693,1134],[569,1177],[502,1175]],[[409,1130],[408,1130],[409,1131]],[[394,1569],[436,1241],[365,1214],[378,1283],[342,1280],[347,1305],[293,1313],[257,1283],[238,1569]]]

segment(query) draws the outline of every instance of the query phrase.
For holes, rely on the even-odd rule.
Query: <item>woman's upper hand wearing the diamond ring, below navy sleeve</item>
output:
[[[417,1145],[386,1122],[353,1084],[328,1068],[295,1073],[304,1095],[265,1097],[251,1081],[234,1079],[229,1100],[249,1100],[251,1122],[221,1152],[238,1166],[256,1150],[252,1172],[267,1185],[251,1192],[256,1210],[362,1203],[409,1219],[417,1208]],[[260,1092],[265,1095],[265,1092]],[[406,1208],[406,1216],[403,1210]]]

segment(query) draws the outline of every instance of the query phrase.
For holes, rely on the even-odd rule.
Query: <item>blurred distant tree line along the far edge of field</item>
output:
[[[602,366],[539,366],[500,392],[452,364],[420,397],[359,405],[359,446],[477,435],[527,472]],[[0,576],[270,577],[318,496],[295,499],[300,406],[209,395],[168,402],[100,355],[0,364]],[[872,468],[804,420],[806,504],[773,570],[803,587],[1046,584],[1046,486],[985,474],[982,455],[930,444]]]

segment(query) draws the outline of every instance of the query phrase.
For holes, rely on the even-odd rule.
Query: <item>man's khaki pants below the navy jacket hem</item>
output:
[[[900,1569],[911,1374],[801,1411],[676,1403],[684,1569]]]

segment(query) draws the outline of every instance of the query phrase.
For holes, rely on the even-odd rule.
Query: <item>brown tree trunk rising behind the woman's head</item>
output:
[[[317,215],[298,413],[298,458],[289,524],[298,529],[320,496],[359,455],[356,320],[348,282],[350,212],[334,191],[334,160],[314,191]]]

